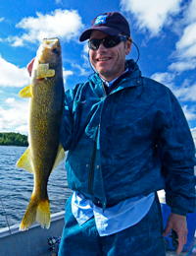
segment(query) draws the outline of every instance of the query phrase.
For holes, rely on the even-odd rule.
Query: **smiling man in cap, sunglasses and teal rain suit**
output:
[[[195,207],[195,149],[181,107],[125,61],[132,40],[121,14],[96,17],[86,39],[96,74],[65,96],[60,141],[74,192],[58,255],[164,256],[171,229],[179,254]],[[164,233],[160,189],[172,209]]]

